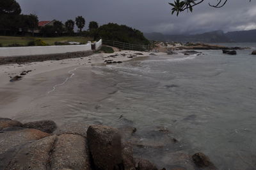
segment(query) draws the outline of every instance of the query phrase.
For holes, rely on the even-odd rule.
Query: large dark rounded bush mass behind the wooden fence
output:
[[[118,25],[109,23],[100,26],[97,29],[97,38],[103,40],[115,40],[118,42],[136,43],[141,45],[148,45],[150,43],[147,38],[144,37],[143,33],[137,29],[132,29],[125,25]]]

